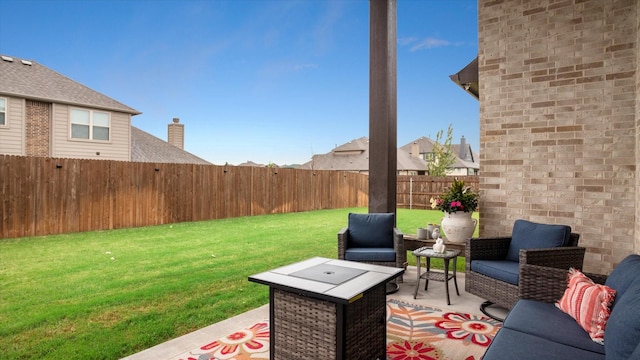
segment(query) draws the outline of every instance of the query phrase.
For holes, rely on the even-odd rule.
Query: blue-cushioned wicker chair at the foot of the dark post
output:
[[[338,259],[404,268],[407,252],[395,214],[349,213],[348,226],[338,232]],[[395,281],[401,282],[402,276]]]

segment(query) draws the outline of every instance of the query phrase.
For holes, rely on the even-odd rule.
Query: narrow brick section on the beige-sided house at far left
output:
[[[51,104],[27,100],[25,111],[27,156],[49,156]]]

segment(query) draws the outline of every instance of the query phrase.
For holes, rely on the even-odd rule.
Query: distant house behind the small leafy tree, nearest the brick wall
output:
[[[431,161],[434,156],[433,145],[433,140],[423,136],[400,147],[400,150],[406,151],[410,153],[411,156],[419,157],[428,162]],[[447,168],[447,175],[478,175],[478,171],[480,170],[480,156],[473,152],[464,136],[460,139],[459,144],[451,144],[451,150],[456,156],[456,159],[453,165]]]

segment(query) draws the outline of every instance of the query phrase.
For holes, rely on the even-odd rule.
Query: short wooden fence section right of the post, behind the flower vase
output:
[[[397,178],[397,207],[430,210],[431,198],[442,194],[456,178],[464,180],[476,193],[478,192],[480,183],[478,176],[399,175]]]

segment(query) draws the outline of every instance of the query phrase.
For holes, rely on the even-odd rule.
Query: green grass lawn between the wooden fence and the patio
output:
[[[0,240],[1,357],[118,359],[266,304],[247,277],[335,258],[350,211],[366,209]],[[441,217],[398,209],[397,223]]]

